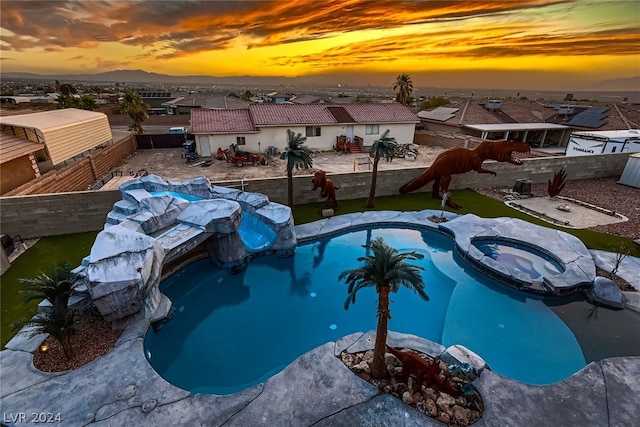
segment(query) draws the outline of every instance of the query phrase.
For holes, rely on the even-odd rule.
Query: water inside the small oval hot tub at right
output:
[[[553,258],[530,247],[499,239],[475,240],[473,245],[486,256],[529,275],[532,280],[564,271]]]

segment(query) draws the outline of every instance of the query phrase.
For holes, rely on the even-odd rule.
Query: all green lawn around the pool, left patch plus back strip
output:
[[[472,190],[456,190],[451,197],[462,208],[455,211],[458,214],[473,213],[485,218],[514,217],[521,218],[544,227],[555,228],[573,234],[584,242],[590,249],[601,249],[616,252],[621,247],[627,247],[631,255],[640,257],[640,249],[631,239],[597,233],[590,230],[574,230],[555,226],[527,214],[506,206],[504,203],[482,196]],[[338,214],[364,211],[366,199],[341,200]],[[296,206],[294,209],[296,224],[322,219],[323,203]],[[440,201],[431,198],[430,193],[412,193],[397,196],[377,197],[375,210],[419,211],[423,209],[440,210]],[[449,210],[447,208],[447,210]],[[98,231],[73,234],[68,236],[45,237],[22,254],[12,267],[2,276],[1,281],[1,340],[4,346],[13,336],[11,325],[15,322],[28,320],[34,313],[37,304],[26,305],[22,295],[18,293],[20,283],[18,279],[34,277],[40,272],[50,271],[64,262],[79,265],[82,258],[89,254]]]

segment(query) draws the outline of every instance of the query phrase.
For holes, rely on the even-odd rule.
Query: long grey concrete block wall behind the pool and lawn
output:
[[[468,172],[454,175],[450,189],[505,187],[512,188],[518,179],[530,179],[533,183],[546,183],[562,168],[567,171],[568,180],[615,177],[619,178],[627,163],[628,154],[605,154],[582,157],[543,157],[525,159],[521,166],[509,163],[487,161],[484,167],[494,170],[497,176]],[[398,194],[398,188],[405,182],[420,175],[425,168],[384,170],[378,172],[376,196]],[[311,191],[311,176],[295,175],[293,178],[294,200],[296,204],[317,203],[320,190]],[[365,198],[369,195],[371,172],[348,172],[329,174],[340,200]],[[238,181],[219,181],[217,185],[239,188]],[[245,180],[245,191],[262,193],[276,203],[287,203],[287,178]],[[431,184],[418,190],[430,192]],[[107,213],[120,200],[120,192],[81,191],[75,193],[15,196],[0,198],[0,231],[11,237],[23,238],[53,236],[100,230],[104,226]]]

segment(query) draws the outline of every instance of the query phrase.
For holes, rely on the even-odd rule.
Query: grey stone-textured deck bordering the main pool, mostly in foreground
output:
[[[433,211],[343,215],[298,226],[296,233],[304,241],[365,223],[427,221],[430,214]],[[610,271],[615,254],[591,253],[598,267]],[[640,289],[640,259],[625,258],[619,274]],[[638,292],[626,294],[629,308],[640,311],[636,295],[629,295]],[[59,414],[64,426],[445,425],[381,393],[336,357],[345,349],[372,348],[373,331],[328,342],[300,356],[265,383],[219,396],[194,395],[162,379],[144,356],[147,327],[145,320],[129,325],[108,354],[61,373],[43,373],[33,367],[32,352],[44,336],[15,337],[0,352],[2,423],[30,425],[33,414],[46,417],[49,413]],[[394,332],[388,342],[432,355],[444,351],[437,343]],[[256,350],[247,349],[259,357]],[[483,417],[475,426],[617,427],[635,425],[640,419],[640,356],[592,362],[570,378],[548,386],[520,383],[485,369],[474,385],[485,403]]]

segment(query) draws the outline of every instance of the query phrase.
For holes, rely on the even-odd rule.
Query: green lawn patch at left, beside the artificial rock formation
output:
[[[52,269],[69,262],[73,266],[80,265],[82,258],[89,255],[98,231],[70,234],[66,236],[43,237],[33,247],[20,255],[11,268],[2,275],[0,281],[0,340],[2,347],[14,335],[13,324],[29,320],[36,312],[37,301],[25,304],[24,295],[18,292],[21,288],[19,279],[35,277],[41,272],[48,273]]]

